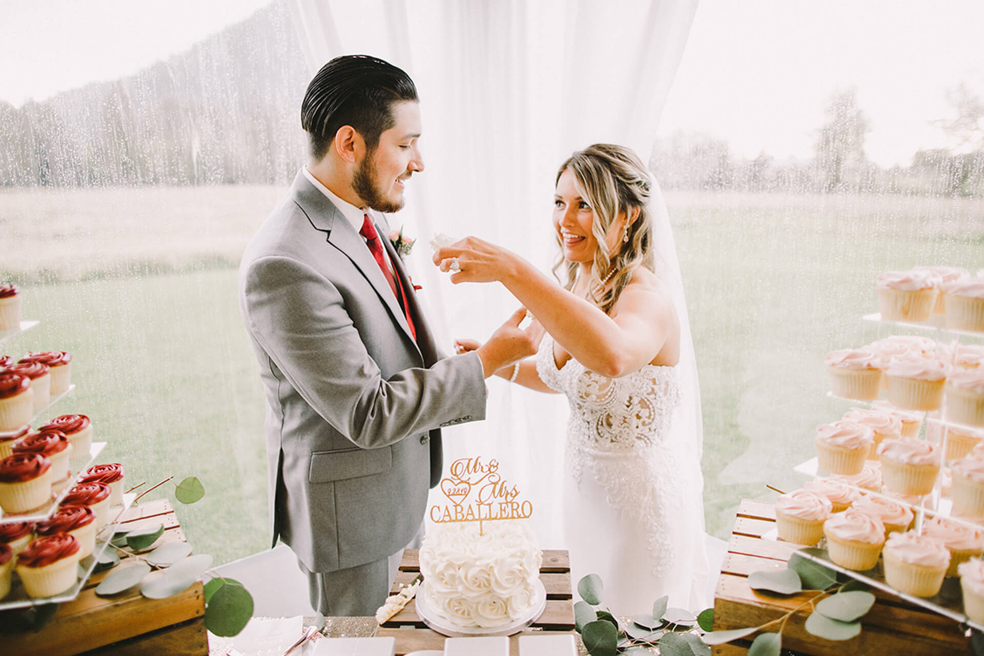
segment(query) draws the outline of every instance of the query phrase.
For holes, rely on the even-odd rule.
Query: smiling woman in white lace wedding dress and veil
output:
[[[707,601],[700,391],[669,221],[649,209],[653,186],[619,146],[561,164],[553,223],[563,286],[475,237],[434,255],[455,283],[504,284],[546,330],[535,359],[497,375],[568,397],[564,546],[574,581],[599,574],[616,615],[645,613],[662,595],[690,610]],[[477,347],[459,340],[460,350]]]

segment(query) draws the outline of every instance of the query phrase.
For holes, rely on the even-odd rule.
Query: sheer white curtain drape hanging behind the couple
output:
[[[290,7],[312,75],[338,55],[372,54],[417,85],[426,169],[408,184],[406,209],[391,222],[418,238],[409,268],[451,352],[454,337],[485,339],[517,304],[498,285],[452,285],[430,263],[431,236],[474,234],[549,270],[558,165],[597,142],[629,146],[646,161],[697,0],[292,0]],[[665,216],[658,190],[652,207]],[[664,264],[679,270],[669,250],[674,261]],[[534,505],[541,545],[560,548],[566,401],[500,379],[488,386],[487,421],[448,429],[445,461],[499,458],[500,471]],[[700,431],[699,404],[691,413]],[[447,503],[441,495],[433,491],[431,503]]]

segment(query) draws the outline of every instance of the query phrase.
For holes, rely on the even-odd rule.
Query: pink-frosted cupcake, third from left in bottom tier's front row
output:
[[[950,551],[915,531],[892,533],[885,543],[885,582],[904,594],[932,597],[950,568]]]

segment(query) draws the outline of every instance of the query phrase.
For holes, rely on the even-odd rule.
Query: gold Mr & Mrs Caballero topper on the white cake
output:
[[[528,519],[533,505],[520,499],[520,490],[499,473],[499,461],[481,456],[459,458],[451,463],[447,478],[441,479],[441,492],[450,505],[430,508],[431,521],[444,524],[454,521],[481,522],[499,519]]]

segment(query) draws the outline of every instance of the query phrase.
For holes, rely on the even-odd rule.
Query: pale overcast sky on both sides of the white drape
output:
[[[134,73],[269,0],[0,0],[0,99]],[[943,144],[947,89],[984,92],[984,0],[702,0],[660,123],[754,157],[810,157],[824,105],[857,89],[879,164]]]

